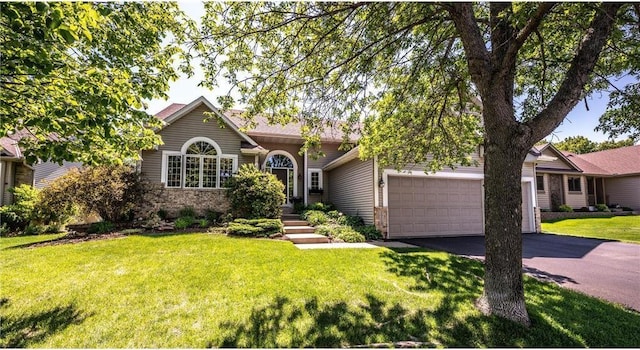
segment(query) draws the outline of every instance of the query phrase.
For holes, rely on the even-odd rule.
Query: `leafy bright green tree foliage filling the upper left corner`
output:
[[[29,161],[120,162],[160,142],[144,100],[165,97],[193,23],[168,2],[0,4],[0,137]],[[178,61],[180,59],[180,61]]]

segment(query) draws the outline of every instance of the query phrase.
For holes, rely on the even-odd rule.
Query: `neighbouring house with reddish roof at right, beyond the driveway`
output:
[[[640,145],[574,154],[548,143],[538,150],[542,154],[536,166],[540,209],[607,204],[640,210]]]

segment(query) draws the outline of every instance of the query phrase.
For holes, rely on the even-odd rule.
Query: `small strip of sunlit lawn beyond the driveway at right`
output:
[[[542,231],[560,235],[640,243],[640,216],[565,219],[543,222]]]

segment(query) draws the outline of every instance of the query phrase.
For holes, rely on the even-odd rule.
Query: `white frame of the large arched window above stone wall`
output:
[[[206,155],[197,155],[197,154],[187,154],[187,149],[189,148],[189,146],[191,146],[193,143],[195,142],[199,142],[199,141],[204,141],[207,142],[211,145],[213,145],[213,147],[216,149],[216,155],[215,156],[206,156]],[[169,156],[180,156],[181,157],[181,161],[180,161],[180,172],[181,172],[181,178],[180,178],[180,186],[168,186],[167,184],[167,171],[168,171],[168,163],[169,163]],[[187,157],[192,157],[192,158],[197,158],[199,160],[199,176],[198,176],[198,187],[185,187],[185,180],[186,180],[186,171],[187,171],[187,167],[186,167],[186,159]],[[204,158],[211,158],[211,159],[215,159],[216,160],[216,168],[215,168],[215,174],[216,174],[216,183],[214,187],[203,187],[203,179],[204,179]],[[185,142],[182,145],[182,148],[180,149],[180,151],[162,151],[162,166],[161,166],[161,174],[160,174],[160,182],[164,184],[165,188],[183,188],[183,189],[190,189],[190,190],[210,190],[210,189],[220,189],[222,188],[220,185],[220,164],[221,164],[221,160],[222,159],[231,159],[231,169],[232,169],[232,173],[235,174],[238,172],[238,155],[237,154],[223,154],[222,151],[220,150],[220,146],[218,146],[218,144],[206,137],[194,137],[189,139],[187,142]]]

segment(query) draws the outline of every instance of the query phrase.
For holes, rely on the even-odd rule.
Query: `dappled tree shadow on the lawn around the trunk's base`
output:
[[[477,261],[415,250],[387,250],[381,259],[389,272],[409,279],[407,298],[429,298],[432,306],[390,303],[384,294],[338,302],[276,296],[243,320],[221,323],[221,338],[207,346],[624,347],[640,342],[639,314],[574,292],[527,280],[533,326],[526,329],[468,311],[482,292]],[[402,343],[407,341],[417,343]]]

